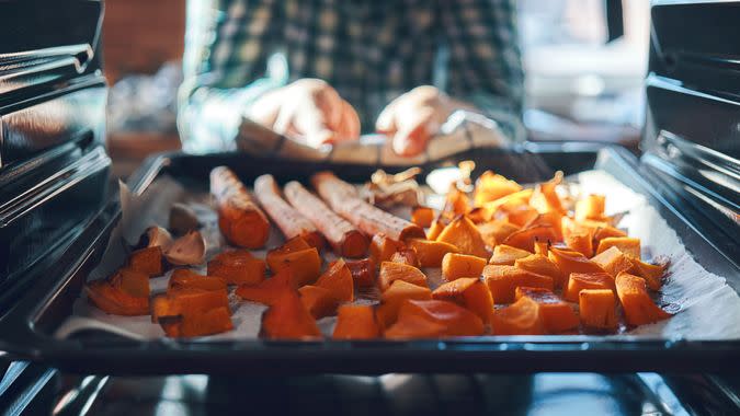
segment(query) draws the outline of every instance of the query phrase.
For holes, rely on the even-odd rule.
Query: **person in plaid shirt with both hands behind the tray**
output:
[[[178,124],[190,152],[249,120],[312,147],[382,132],[422,152],[456,109],[521,131],[514,0],[189,0]]]

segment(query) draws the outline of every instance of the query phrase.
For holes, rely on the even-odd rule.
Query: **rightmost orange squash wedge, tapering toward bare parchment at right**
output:
[[[645,279],[628,273],[616,277],[616,292],[629,325],[644,325],[671,317],[648,294]]]

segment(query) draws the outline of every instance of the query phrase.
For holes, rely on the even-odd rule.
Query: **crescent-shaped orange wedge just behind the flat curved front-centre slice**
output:
[[[478,315],[485,324],[491,322],[493,298],[488,286],[477,277],[463,277],[448,281],[432,292],[432,298],[459,304]]]

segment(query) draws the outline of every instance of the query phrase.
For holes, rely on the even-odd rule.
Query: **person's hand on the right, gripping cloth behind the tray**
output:
[[[412,157],[426,148],[455,109],[463,107],[469,105],[449,99],[435,86],[417,86],[385,107],[375,129],[392,139],[396,153]]]

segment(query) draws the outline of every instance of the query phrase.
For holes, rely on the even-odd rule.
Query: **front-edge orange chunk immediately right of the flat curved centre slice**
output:
[[[493,313],[491,326],[494,335],[544,335],[545,322],[539,303],[522,297],[511,305]]]

